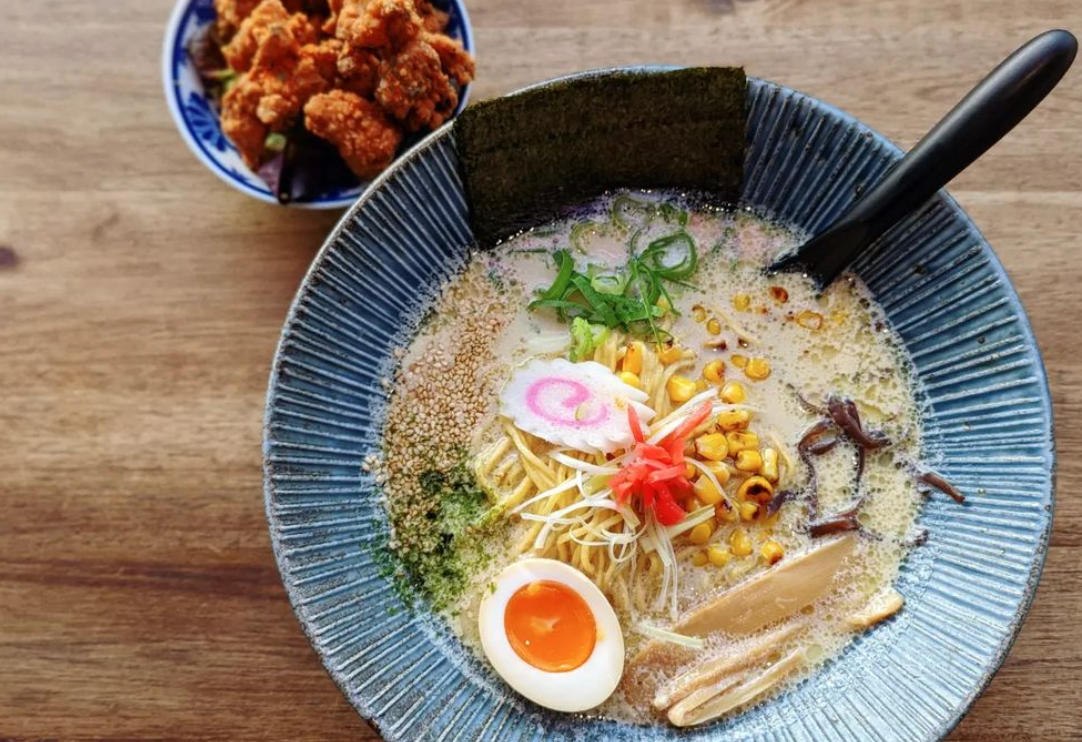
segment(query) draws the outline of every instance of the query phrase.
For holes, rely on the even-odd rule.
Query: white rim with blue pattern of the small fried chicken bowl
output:
[[[473,31],[470,16],[461,0],[435,0],[433,3],[449,13],[447,34],[462,42],[473,54]],[[161,82],[166,89],[166,102],[188,149],[200,162],[222,181],[237,190],[267,203],[278,203],[275,195],[259,175],[245,164],[236,147],[222,133],[219,114],[207,100],[202,82],[188,57],[187,49],[217,17],[214,0],[180,0],[166,28],[166,39],[161,52]],[[458,115],[465,108],[470,97],[470,85],[462,90]],[[368,185],[359,178],[348,188],[330,190],[307,200],[296,200],[290,206],[302,209],[342,209],[354,201]]]

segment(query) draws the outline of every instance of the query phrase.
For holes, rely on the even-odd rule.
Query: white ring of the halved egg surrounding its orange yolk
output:
[[[590,658],[564,673],[539,670],[518,657],[504,626],[507,601],[531,582],[559,582],[578,593],[597,627]],[[480,602],[480,642],[492,667],[509,686],[546,708],[580,712],[593,708],[616,690],[623,675],[623,633],[612,606],[579,570],[555,559],[523,559],[496,578],[496,591]]]

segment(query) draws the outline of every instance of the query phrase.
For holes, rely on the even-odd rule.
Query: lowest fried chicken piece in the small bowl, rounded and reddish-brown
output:
[[[383,171],[401,144],[401,132],[371,101],[344,90],[315,95],[304,106],[305,125],[335,145],[358,176]]]

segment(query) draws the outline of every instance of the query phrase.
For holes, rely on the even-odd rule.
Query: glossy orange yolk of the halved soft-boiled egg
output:
[[[507,640],[518,657],[549,673],[566,673],[590,659],[597,642],[593,611],[562,582],[519,587],[503,613]]]

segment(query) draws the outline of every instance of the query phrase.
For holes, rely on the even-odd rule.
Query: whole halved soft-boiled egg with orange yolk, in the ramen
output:
[[[555,559],[523,559],[480,604],[480,642],[512,688],[555,711],[586,711],[623,674],[623,634],[597,586]]]

